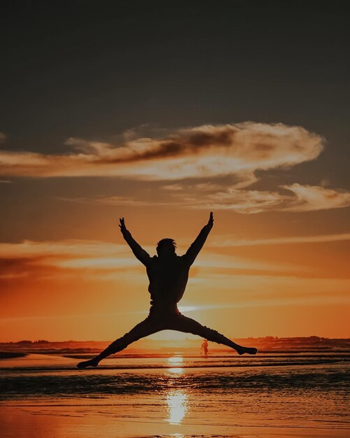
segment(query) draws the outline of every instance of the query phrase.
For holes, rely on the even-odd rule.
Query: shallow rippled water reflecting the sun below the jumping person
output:
[[[1,437],[350,437],[347,353],[0,363]]]

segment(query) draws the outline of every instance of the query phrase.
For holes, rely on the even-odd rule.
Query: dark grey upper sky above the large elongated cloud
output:
[[[284,122],[349,144],[347,2],[2,1],[6,148],[142,124]],[[322,157],[322,158],[323,158]],[[340,175],[338,173],[338,175]]]

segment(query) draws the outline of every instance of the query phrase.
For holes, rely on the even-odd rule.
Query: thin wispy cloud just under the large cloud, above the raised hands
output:
[[[78,204],[103,204],[110,206],[177,206],[185,209],[226,210],[235,213],[263,213],[265,211],[316,211],[340,209],[350,206],[350,192],[341,189],[328,189],[322,186],[281,185],[287,191],[244,190],[235,186],[212,183],[194,185],[164,185],[166,196],[159,195],[146,199],[145,193],[136,192],[124,197],[121,195],[95,198],[64,198],[61,201]]]

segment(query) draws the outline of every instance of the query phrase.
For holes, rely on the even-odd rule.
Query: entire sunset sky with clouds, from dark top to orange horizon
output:
[[[210,211],[184,314],[350,336],[349,17],[322,4],[1,2],[0,341],[129,331],[119,217],[182,254]]]

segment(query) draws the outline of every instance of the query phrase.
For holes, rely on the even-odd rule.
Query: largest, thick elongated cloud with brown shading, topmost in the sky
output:
[[[120,144],[71,138],[72,153],[0,152],[5,176],[119,176],[168,181],[234,176],[236,187],[256,181],[254,172],[314,160],[321,136],[302,127],[243,122],[178,129],[164,138],[125,136]]]

